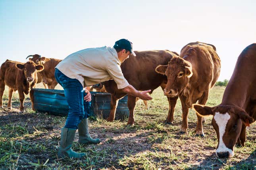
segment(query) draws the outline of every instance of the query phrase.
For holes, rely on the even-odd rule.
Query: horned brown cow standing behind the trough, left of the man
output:
[[[59,64],[59,62],[61,62],[62,60],[41,57],[38,54],[29,55],[27,56],[27,58],[28,57],[32,57],[29,58],[29,60],[34,61],[36,64],[42,64],[44,66],[44,70],[40,72],[43,80],[42,82],[47,84],[48,89],[54,89],[55,86],[58,84],[54,77],[55,66],[57,66],[57,64]]]

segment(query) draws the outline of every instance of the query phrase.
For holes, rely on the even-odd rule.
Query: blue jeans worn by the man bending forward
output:
[[[81,120],[89,117],[91,102],[85,102],[85,111],[83,98],[87,93],[83,91],[83,86],[77,79],[65,76],[57,68],[55,69],[55,78],[64,89],[69,108],[65,128],[77,129]]]

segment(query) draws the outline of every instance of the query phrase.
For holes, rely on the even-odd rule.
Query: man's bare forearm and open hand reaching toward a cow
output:
[[[124,93],[127,93],[131,96],[139,97],[142,100],[151,100],[152,99],[152,97],[147,94],[151,90],[140,92],[140,91],[137,91],[132,85],[128,85],[127,87],[123,88],[122,90]]]

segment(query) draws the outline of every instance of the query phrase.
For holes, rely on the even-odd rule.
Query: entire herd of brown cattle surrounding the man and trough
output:
[[[221,61],[216,47],[202,42],[193,42],[181,49],[180,55],[169,50],[135,51],[136,57],[121,64],[127,81],[135,89],[151,93],[159,86],[169,102],[166,123],[172,124],[177,99],[182,106],[181,132],[187,133],[189,108],[196,110],[196,135],[204,136],[203,116],[213,115],[212,125],[218,137],[216,154],[218,157],[232,157],[235,144],[244,145],[246,126],[256,120],[256,43],[246,47],[240,54],[233,75],[225,89],[221,104],[215,107],[205,106],[210,88],[216,83]],[[31,58],[29,58],[31,57]],[[29,55],[29,61],[21,63],[6,60],[0,68],[0,107],[5,86],[9,87],[8,108],[12,108],[13,91],[18,91],[23,111],[24,93],[42,82],[45,88],[54,89],[57,81],[54,68],[61,61],[40,55]],[[133,69],[131,69],[133,68]],[[111,111],[108,121],[114,121],[115,110],[120,98],[126,95],[117,89],[113,80],[102,82],[111,93]],[[35,110],[33,97],[30,96],[32,109]],[[130,111],[128,125],[135,123],[134,108],[136,97],[128,95]],[[198,101],[198,104],[196,102]],[[146,103],[145,103],[146,104]],[[146,105],[147,107],[147,105]]]

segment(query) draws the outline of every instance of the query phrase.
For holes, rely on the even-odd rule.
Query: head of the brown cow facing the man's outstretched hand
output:
[[[167,65],[157,66],[156,72],[167,76],[164,95],[175,97],[188,85],[189,78],[192,76],[192,66],[183,58],[173,57]]]

